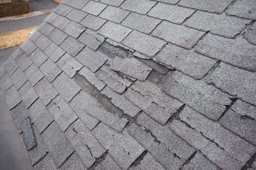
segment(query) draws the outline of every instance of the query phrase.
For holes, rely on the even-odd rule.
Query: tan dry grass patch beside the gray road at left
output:
[[[22,45],[29,38],[29,32],[34,28],[38,28],[38,26],[0,34],[0,50]]]

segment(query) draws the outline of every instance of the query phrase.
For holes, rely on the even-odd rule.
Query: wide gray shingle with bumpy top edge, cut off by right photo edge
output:
[[[242,37],[234,40],[207,34],[195,45],[195,51],[240,68],[256,71],[256,46]]]

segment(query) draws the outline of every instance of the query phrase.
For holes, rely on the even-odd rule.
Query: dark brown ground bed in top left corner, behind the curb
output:
[[[0,18],[26,14],[29,12],[31,12],[31,10],[27,2],[0,4]]]

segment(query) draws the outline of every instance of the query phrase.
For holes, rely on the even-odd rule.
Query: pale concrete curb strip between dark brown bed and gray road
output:
[[[31,12],[31,13],[28,13],[28,14],[17,15],[17,16],[14,16],[14,17],[0,18],[0,23],[10,21],[10,20],[19,20],[19,19],[28,18],[28,17],[35,17],[35,16],[42,15],[42,14],[48,14],[48,13],[51,13],[54,9],[55,8],[45,9],[45,10],[41,10],[41,11]]]

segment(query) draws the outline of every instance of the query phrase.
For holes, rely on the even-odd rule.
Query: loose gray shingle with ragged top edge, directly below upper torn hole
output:
[[[122,59],[120,57],[115,57],[113,60],[111,60],[110,69],[119,71],[139,80],[145,80],[148,77],[148,74],[152,71],[152,68],[145,65],[138,59]]]

